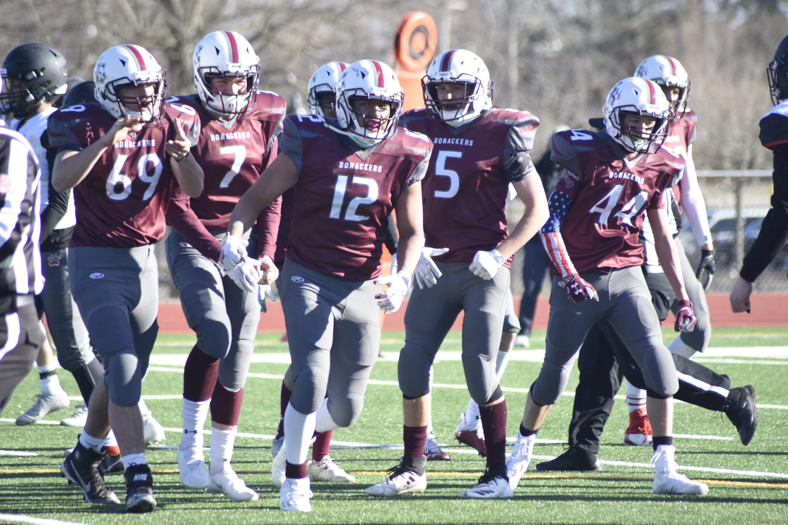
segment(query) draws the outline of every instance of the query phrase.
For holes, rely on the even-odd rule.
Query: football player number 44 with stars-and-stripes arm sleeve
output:
[[[685,167],[682,155],[662,147],[673,113],[656,83],[634,77],[615,84],[603,113],[605,132],[561,131],[552,140],[552,158],[564,172],[550,195],[550,219],[541,238],[559,275],[553,277],[545,362],[530,387],[507,473],[516,486],[530,463],[541,423],[566,388],[585,335],[606,319],[641,365],[647,386],[656,467],[652,490],[707,494],[704,483],[676,471],[676,368],[662,344],[660,322],[639,268],[643,247],[638,235],[645,211],[678,299],[675,329],[691,331],[696,320],[663,199]]]

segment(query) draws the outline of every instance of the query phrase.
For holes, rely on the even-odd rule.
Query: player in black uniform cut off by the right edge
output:
[[[771,102],[775,107],[760,119],[760,143],[774,152],[774,194],[771,209],[760,224],[758,238],[750,247],[742,271],[730,292],[730,309],[749,313],[753,283],[782,250],[788,239],[788,36],[780,41],[766,69]]]

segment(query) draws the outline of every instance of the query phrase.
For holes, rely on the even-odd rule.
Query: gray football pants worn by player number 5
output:
[[[504,324],[509,269],[481,279],[468,263],[442,263],[443,274],[432,288],[414,287],[405,312],[405,346],[400,350],[398,377],[405,397],[429,393],[429,369],[440,344],[459,312],[463,317],[463,369],[470,392],[479,405],[487,405],[498,388],[496,356]],[[494,401],[494,400],[493,400]]]

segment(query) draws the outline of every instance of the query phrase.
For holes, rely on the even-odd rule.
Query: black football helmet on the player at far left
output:
[[[65,94],[65,57],[52,46],[28,43],[11,50],[2,62],[0,111],[24,118],[43,101]]]

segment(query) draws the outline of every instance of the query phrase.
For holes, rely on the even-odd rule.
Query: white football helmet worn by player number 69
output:
[[[141,117],[145,122],[151,122],[164,115],[167,72],[144,47],[131,44],[110,47],[96,62],[93,79],[96,83],[96,100],[115,118],[134,116]],[[149,99],[137,97],[121,100],[117,96],[119,87],[143,84],[153,84],[154,94]],[[141,112],[132,111],[124,105],[124,102],[148,107]]]

